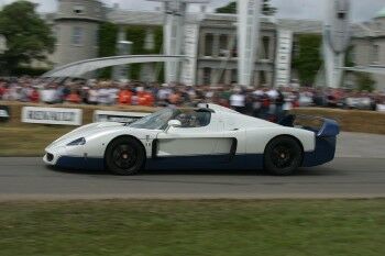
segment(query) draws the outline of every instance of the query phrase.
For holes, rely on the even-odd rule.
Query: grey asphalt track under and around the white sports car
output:
[[[68,199],[280,199],[385,197],[385,136],[342,134],[334,162],[290,177],[263,171],[54,170],[41,158],[0,158],[0,201]]]

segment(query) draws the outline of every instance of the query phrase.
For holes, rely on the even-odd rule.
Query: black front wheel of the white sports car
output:
[[[114,175],[136,175],[145,162],[145,152],[140,142],[132,137],[119,137],[106,149],[106,167]]]

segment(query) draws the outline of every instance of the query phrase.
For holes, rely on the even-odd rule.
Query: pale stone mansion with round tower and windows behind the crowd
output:
[[[130,11],[119,5],[106,8],[98,0],[58,0],[56,13],[47,15],[57,37],[55,53],[50,57],[54,66],[98,57],[98,30],[100,22],[109,21],[120,27],[117,38],[124,40],[125,27],[146,27],[145,48],[154,47],[154,27],[164,23],[162,10]],[[277,85],[282,71],[279,59],[288,63],[287,84],[296,80],[296,70],[290,70],[292,52],[297,49],[300,34],[322,34],[322,22],[261,18],[261,36],[253,85]],[[237,15],[215,13],[189,13],[186,22],[184,54],[191,63],[183,68],[182,80],[188,85],[217,85],[237,81]],[[289,34],[282,45],[282,32]],[[353,60],[356,65],[385,65],[385,9],[365,23],[353,25]],[[286,55],[279,55],[286,48]],[[293,51],[292,51],[293,49]],[[160,53],[161,54],[161,53]],[[158,65],[142,65],[141,79],[153,81],[160,71]],[[285,73],[282,73],[285,74]],[[385,76],[374,75],[378,89],[385,88]]]

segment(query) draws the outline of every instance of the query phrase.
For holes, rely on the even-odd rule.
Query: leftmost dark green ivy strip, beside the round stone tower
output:
[[[117,53],[118,25],[105,22],[99,27],[99,57],[114,56]],[[111,78],[112,68],[103,68],[99,71],[100,78]]]

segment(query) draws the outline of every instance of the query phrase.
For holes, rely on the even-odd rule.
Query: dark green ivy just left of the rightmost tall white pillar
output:
[[[312,85],[318,70],[321,67],[321,36],[299,35],[299,53],[293,60],[293,67],[298,71],[299,80],[304,84]]]

